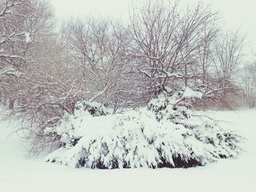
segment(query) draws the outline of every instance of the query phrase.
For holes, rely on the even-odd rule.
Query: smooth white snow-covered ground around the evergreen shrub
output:
[[[0,111],[1,112],[1,111]],[[256,110],[213,112],[225,128],[246,137],[238,159],[189,169],[74,169],[26,157],[26,142],[0,123],[0,192],[256,191]]]

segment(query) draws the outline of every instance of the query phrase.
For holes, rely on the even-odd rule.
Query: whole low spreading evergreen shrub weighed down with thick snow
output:
[[[55,131],[61,138],[59,149],[45,161],[115,169],[203,166],[236,157],[243,138],[212,120],[192,118],[189,103],[200,96],[184,88],[160,95],[147,107],[116,115],[95,102],[80,102],[74,115],[57,128],[45,129],[45,134]]]

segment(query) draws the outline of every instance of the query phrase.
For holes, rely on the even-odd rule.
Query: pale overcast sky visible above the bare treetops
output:
[[[78,15],[99,15],[127,20],[129,4],[143,0],[50,0],[56,17],[67,19]],[[197,2],[198,0],[181,0]],[[246,35],[246,42],[256,53],[256,0],[201,0],[222,13],[228,28],[240,28]],[[250,53],[249,53],[250,54]]]

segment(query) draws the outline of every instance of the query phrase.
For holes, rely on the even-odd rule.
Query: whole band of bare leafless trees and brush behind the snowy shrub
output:
[[[244,38],[221,23],[204,4],[148,1],[130,7],[129,24],[60,25],[47,1],[0,0],[0,102],[37,138],[81,100],[116,112],[189,86],[203,93],[198,108],[254,107],[256,65],[243,65]]]

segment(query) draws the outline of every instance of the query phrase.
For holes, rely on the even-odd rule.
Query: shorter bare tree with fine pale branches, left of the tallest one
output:
[[[71,20],[67,45],[74,67],[83,75],[84,98],[105,104],[115,102],[114,95],[123,88],[122,79],[129,61],[127,28],[111,20]]]

